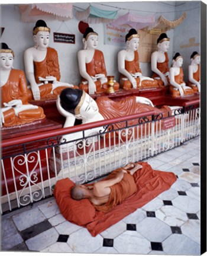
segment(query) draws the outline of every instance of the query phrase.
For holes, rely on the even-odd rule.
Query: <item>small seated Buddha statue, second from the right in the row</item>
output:
[[[183,57],[176,53],[173,57],[173,66],[170,68],[170,94],[173,97],[194,94],[193,89],[183,81]]]

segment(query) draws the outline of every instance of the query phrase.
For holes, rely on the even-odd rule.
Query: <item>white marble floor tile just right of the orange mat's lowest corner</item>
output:
[[[106,229],[104,232],[100,233],[103,238],[111,238],[114,239],[118,235],[121,235],[124,231],[127,230],[127,224],[122,220],[112,225],[110,228]]]

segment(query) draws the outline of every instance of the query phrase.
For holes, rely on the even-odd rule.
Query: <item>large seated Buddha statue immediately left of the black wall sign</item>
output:
[[[63,88],[74,86],[60,82],[60,68],[57,51],[48,47],[50,28],[38,20],[33,28],[34,47],[24,52],[25,73],[30,82],[29,100],[57,98]]]

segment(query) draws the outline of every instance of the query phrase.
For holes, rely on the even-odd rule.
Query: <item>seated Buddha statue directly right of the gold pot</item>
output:
[[[134,28],[125,36],[127,45],[126,50],[118,53],[118,71],[120,76],[120,87],[128,90],[131,88],[157,88],[159,84],[157,80],[143,76],[140,69],[138,46],[140,43],[140,35]]]

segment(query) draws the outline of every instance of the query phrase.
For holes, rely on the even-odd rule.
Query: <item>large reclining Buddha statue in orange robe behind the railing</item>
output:
[[[72,127],[75,120],[79,119],[82,124],[114,119],[116,117],[128,116],[130,114],[154,111],[154,114],[166,113],[166,117],[171,108],[163,106],[154,107],[153,103],[145,97],[125,97],[124,100],[113,101],[108,97],[99,97],[96,101],[85,91],[80,89],[66,88],[57,97],[57,109],[62,116],[66,117],[65,127]],[[129,125],[137,124],[137,120],[128,121]],[[114,127],[121,129],[124,123],[116,123]],[[102,127],[97,127],[85,131],[85,136],[100,133]],[[82,132],[64,135],[62,142],[79,139],[83,136]],[[67,146],[67,144],[65,144]]]

